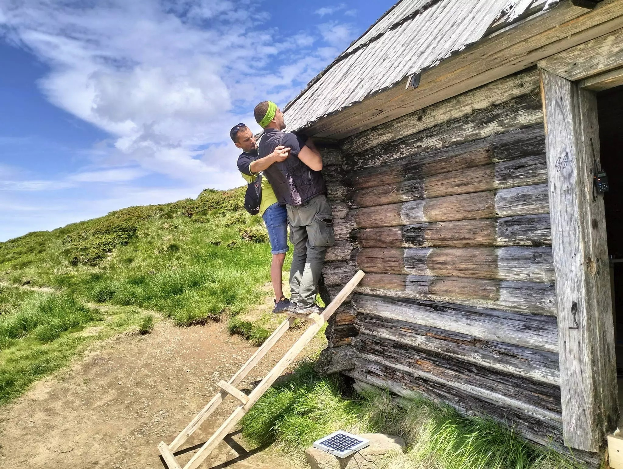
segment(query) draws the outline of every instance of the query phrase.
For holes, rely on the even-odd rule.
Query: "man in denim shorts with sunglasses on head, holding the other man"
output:
[[[278,146],[265,158],[257,154],[255,137],[249,127],[239,123],[232,127],[229,136],[235,146],[242,149],[238,157],[238,169],[247,182],[255,181],[257,173],[269,168],[273,163],[283,161],[288,157],[290,148]],[[273,313],[285,311],[290,306],[290,300],[283,296],[282,270],[285,253],[288,252],[288,212],[285,206],[278,204],[275,192],[267,178],[262,178],[262,202],[260,202],[260,215],[264,219],[266,229],[269,232],[270,252],[270,279],[275,290],[275,308]]]

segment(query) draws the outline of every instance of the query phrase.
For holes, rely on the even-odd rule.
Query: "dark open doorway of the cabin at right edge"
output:
[[[623,86],[597,93],[602,171],[609,179],[604,194],[616,340],[619,408],[623,403]],[[622,409],[623,410],[623,409]],[[619,422],[621,425],[621,422]]]

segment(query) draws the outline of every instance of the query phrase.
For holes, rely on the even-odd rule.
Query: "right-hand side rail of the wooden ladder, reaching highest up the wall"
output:
[[[336,297],[329,303],[329,305],[325,308],[322,315],[320,316],[321,320],[317,321],[313,325],[311,325],[305,333],[293,344],[293,346],[288,350],[288,352],[283,356],[283,358],[273,367],[273,369],[267,374],[262,382],[255,387],[255,389],[249,394],[249,402],[247,404],[240,404],[229,416],[224,424],[210,437],[209,440],[199,449],[197,453],[191,458],[184,469],[196,469],[201,465],[202,462],[210,455],[212,450],[218,445],[223,438],[227,436],[227,433],[230,432],[231,429],[235,427],[235,425],[244,417],[249,409],[257,402],[257,400],[262,397],[262,395],[269,389],[269,387],[277,380],[279,376],[285,371],[285,369],[290,366],[290,364],[297,358],[298,354],[301,353],[303,348],[314,338],[316,333],[320,331],[320,328],[323,324],[328,320],[328,318],[333,315],[338,306],[340,306],[346,297],[350,295],[350,293],[354,290],[357,284],[361,281],[365,274],[359,270],[351,280],[346,283],[345,287],[342,288],[340,293],[336,295]]]

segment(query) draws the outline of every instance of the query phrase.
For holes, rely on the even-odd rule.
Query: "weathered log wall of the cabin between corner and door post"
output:
[[[357,269],[366,277],[331,320],[323,358],[335,354],[325,369],[359,381],[562,442],[538,73],[499,86],[325,149],[337,241],[321,295]],[[465,115],[470,100],[479,105]]]

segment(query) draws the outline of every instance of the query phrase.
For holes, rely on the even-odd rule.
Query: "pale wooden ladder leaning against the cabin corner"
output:
[[[264,344],[255,351],[255,353],[247,360],[247,362],[238,370],[236,374],[229,381],[221,381],[218,386],[221,388],[221,391],[217,392],[209,404],[204,407],[199,414],[197,414],[193,421],[189,423],[186,428],[179,433],[178,437],[173,440],[173,443],[167,445],[164,442],[160,442],[158,445],[158,450],[162,455],[164,462],[169,469],[195,469],[201,465],[202,462],[210,455],[212,450],[216,448],[223,438],[227,436],[227,434],[235,427],[235,425],[242,419],[244,414],[249,412],[249,409],[257,402],[262,395],[268,391],[269,387],[275,382],[275,380],[281,376],[281,374],[285,371],[285,369],[290,366],[290,364],[297,358],[298,354],[301,353],[303,348],[315,337],[315,335],[320,331],[320,328],[326,323],[326,321],[333,315],[338,306],[340,306],[346,297],[351,294],[354,288],[361,282],[361,278],[363,278],[364,273],[359,270],[353,278],[351,278],[350,282],[346,283],[345,287],[342,288],[340,293],[335,296],[333,301],[329,303],[329,305],[325,308],[321,315],[317,315],[316,313],[312,313],[312,315],[297,315],[296,313],[290,313],[289,311],[286,313],[289,317],[287,320],[283,321],[281,325],[275,329],[275,331],[270,334],[270,337],[266,339]],[[264,357],[264,355],[272,348],[275,343],[285,334],[292,323],[297,320],[297,318],[301,318],[307,321],[311,321],[312,325],[303,333],[303,335],[295,342],[295,344],[288,350],[288,352],[283,356],[283,358],[270,370],[269,374],[267,374],[264,379],[260,382],[260,384],[255,387],[253,391],[250,392],[249,396],[244,394],[244,392],[237,389],[237,384],[240,383],[244,379],[245,376],[253,369],[253,367]],[[174,452],[178,450],[178,448],[183,445],[183,443],[199,428],[199,426],[209,417],[214,410],[223,402],[223,400],[227,396],[232,396],[234,399],[239,400],[238,407],[232,412],[232,414],[225,420],[225,422],[221,425],[221,427],[216,430],[216,433],[212,435],[209,440],[195,453],[195,455],[191,458],[191,460],[182,467],[174,456]]]

